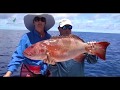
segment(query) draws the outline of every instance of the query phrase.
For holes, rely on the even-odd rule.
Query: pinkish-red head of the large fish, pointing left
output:
[[[23,52],[24,56],[33,60],[44,60],[47,58],[46,46],[40,43],[33,44]]]

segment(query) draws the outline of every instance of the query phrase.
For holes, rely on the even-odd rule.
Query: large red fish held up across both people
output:
[[[96,42],[90,48],[88,43],[83,42],[78,36],[57,36],[33,44],[24,51],[27,58],[33,60],[54,60],[54,62],[67,61],[82,53],[97,55],[106,59],[106,48],[109,42]],[[91,52],[89,52],[91,50]]]

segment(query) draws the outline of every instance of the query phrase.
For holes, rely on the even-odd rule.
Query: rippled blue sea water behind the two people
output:
[[[0,30],[0,76],[7,71],[7,64],[11,55],[16,49],[20,37],[28,32],[27,30]],[[49,31],[53,36],[59,32]],[[95,64],[89,64],[85,60],[85,76],[89,77],[119,77],[120,76],[120,34],[112,33],[91,33],[73,32],[86,42],[88,41],[108,41],[110,45],[106,51],[106,60],[98,59]],[[19,75],[19,69],[13,74]]]

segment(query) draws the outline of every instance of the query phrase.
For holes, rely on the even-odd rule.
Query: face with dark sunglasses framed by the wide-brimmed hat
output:
[[[38,32],[44,31],[46,24],[46,19],[44,17],[35,17],[33,23]]]

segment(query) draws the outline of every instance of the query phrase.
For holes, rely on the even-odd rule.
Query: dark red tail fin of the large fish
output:
[[[109,44],[109,42],[97,42],[95,43],[94,48],[91,49],[91,53],[103,60],[106,60],[106,49]]]

